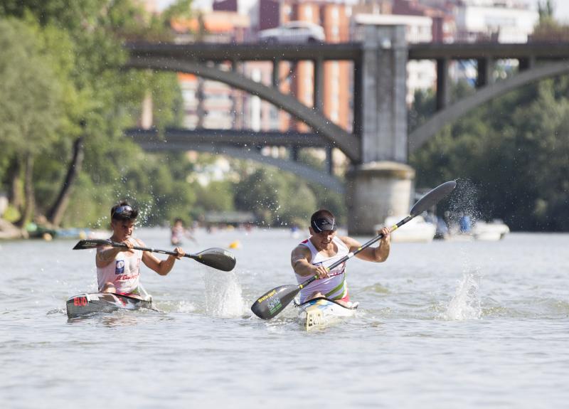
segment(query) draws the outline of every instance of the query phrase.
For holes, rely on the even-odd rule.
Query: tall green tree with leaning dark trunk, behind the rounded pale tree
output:
[[[130,0],[4,1],[0,16],[21,18],[41,33],[43,45],[39,48],[51,55],[50,69],[58,78],[53,84],[58,83],[63,90],[59,115],[52,116],[58,119],[58,137],[44,147],[45,155],[36,158],[41,171],[26,178],[34,187],[28,186],[26,191],[38,193],[38,213],[47,212],[55,225],[65,220],[78,223],[73,214],[62,216],[67,203],[84,206],[85,194],[100,197],[94,184],[107,191],[104,201],[114,200],[112,186],[129,171],[117,164],[129,158],[141,160],[137,157],[139,147],[124,140],[122,129],[136,124],[147,93],[154,98],[154,119],[159,129],[181,121],[181,92],[175,74],[120,70],[127,58],[122,49],[124,39],[166,39],[170,33],[163,21],[147,16],[141,6]],[[121,152],[117,147],[121,147]],[[0,176],[10,179],[16,192],[21,164],[10,159],[14,155],[16,152],[0,156]],[[66,163],[67,169],[62,166]],[[81,176],[82,165],[94,183],[87,183]],[[144,173],[144,169],[133,167]],[[61,180],[62,184],[53,184],[53,180]],[[87,190],[73,194],[74,183]],[[151,186],[144,188],[150,189]],[[92,220],[91,216],[85,218]]]

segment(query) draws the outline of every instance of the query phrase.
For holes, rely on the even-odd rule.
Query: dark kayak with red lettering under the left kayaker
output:
[[[83,317],[97,312],[115,312],[119,309],[152,308],[152,297],[104,293],[77,294],[67,300],[68,318]]]

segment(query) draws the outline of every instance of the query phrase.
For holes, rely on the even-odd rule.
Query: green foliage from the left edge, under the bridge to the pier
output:
[[[189,0],[161,17],[132,0],[6,0],[0,4],[0,182],[14,158],[35,156],[36,213],[60,191],[73,142],[85,141],[83,168],[63,225],[108,228],[108,209],[129,199],[141,223],[198,218],[206,211],[254,211],[265,225],[305,223],[317,208],[345,213],[344,198],[292,174],[231,160],[234,174],[201,186],[189,177],[216,160],[196,163],[181,152],[149,154],[124,137],[137,125],[142,101],[153,104],[160,132],[181,124],[182,98],[174,73],[122,70],[124,41],[168,40],[170,18],[189,17]],[[202,21],[203,23],[203,21]],[[309,149],[300,159],[324,169]],[[240,182],[238,182],[240,181]],[[18,209],[9,214],[18,216]]]

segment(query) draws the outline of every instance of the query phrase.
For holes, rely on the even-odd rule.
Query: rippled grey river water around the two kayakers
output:
[[[171,248],[165,229],[137,236]],[[65,300],[96,290],[92,250],[72,251],[73,240],[0,242],[0,407],[568,404],[569,235],[393,243],[385,263],[348,263],[358,315],[310,332],[294,307],[269,322],[249,309],[295,283],[298,238],[234,230],[196,239],[186,251],[238,243],[235,270],[190,259],[166,277],[144,267],[161,312],[69,321]]]

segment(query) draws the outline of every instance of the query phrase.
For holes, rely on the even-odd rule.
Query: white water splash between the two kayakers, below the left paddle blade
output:
[[[234,272],[206,272],[206,314],[230,318],[243,315],[245,303],[241,286]]]

